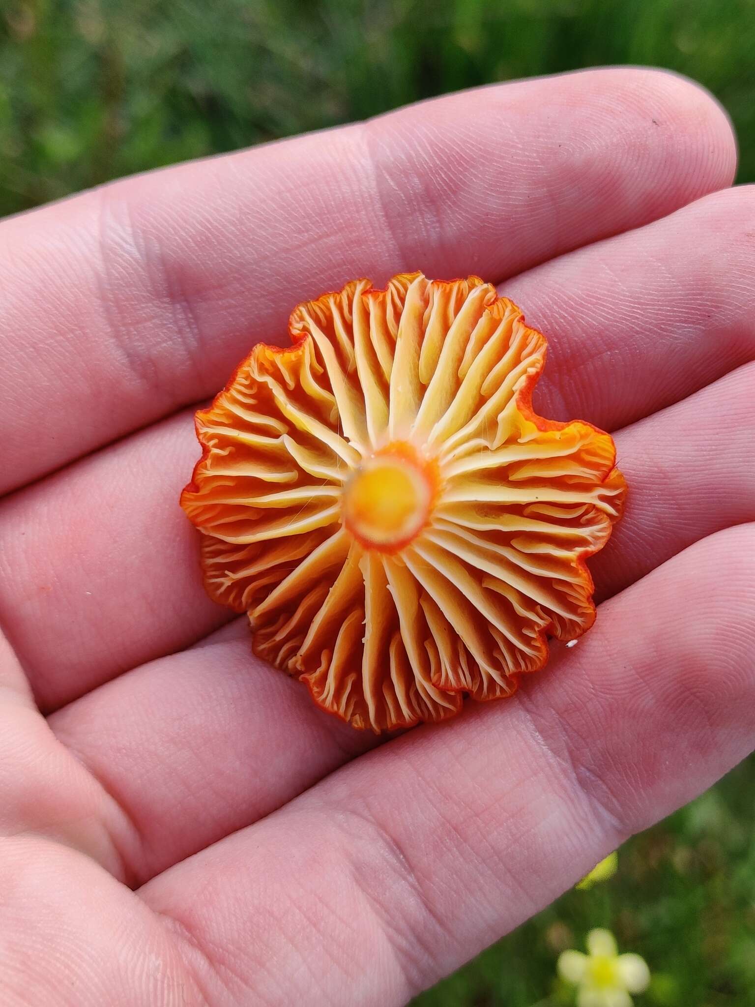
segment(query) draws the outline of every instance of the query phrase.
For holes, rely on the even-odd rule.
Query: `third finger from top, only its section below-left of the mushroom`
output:
[[[109,808],[106,827],[136,883],[379,743],[323,715],[300,683],[256,658],[246,619],[108,683],[48,723],[118,802],[121,814]]]

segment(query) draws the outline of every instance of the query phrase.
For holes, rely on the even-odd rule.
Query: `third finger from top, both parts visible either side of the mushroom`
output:
[[[751,365],[618,435],[631,492],[590,563],[598,597],[707,535],[755,522],[754,392]],[[129,809],[141,837],[130,866],[142,879],[269,814],[372,743],[344,733],[299,684],[254,658],[245,619],[222,642],[138,669],[50,723]],[[251,776],[260,764],[270,771]]]

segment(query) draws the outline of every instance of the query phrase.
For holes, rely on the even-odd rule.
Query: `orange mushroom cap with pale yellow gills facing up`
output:
[[[610,436],[536,416],[546,339],[477,277],[300,305],[196,414],[181,505],[210,596],[323,709],[383,731],[510,696],[595,618]]]

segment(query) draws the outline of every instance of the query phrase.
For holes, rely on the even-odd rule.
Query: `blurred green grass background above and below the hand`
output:
[[[705,84],[755,179],[755,0],[0,0],[0,213],[176,160],[459,88],[601,63]],[[638,1002],[755,1005],[755,761],[631,840],[420,997],[560,1007],[559,952],[614,930],[652,972]]]

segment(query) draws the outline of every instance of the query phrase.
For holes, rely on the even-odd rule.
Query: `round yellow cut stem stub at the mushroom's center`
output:
[[[433,486],[412,458],[383,454],[365,459],[346,484],[343,520],[363,546],[405,545],[428,518]]]

